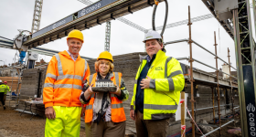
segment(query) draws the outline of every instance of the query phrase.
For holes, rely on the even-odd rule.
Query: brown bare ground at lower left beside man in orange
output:
[[[0,137],[44,137],[46,119],[0,106]],[[85,130],[80,129],[80,137],[85,137]]]

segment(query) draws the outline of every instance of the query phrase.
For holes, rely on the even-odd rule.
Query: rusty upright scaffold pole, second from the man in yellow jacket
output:
[[[221,136],[221,121],[220,121],[220,106],[219,106],[219,69],[218,69],[218,57],[217,57],[217,43],[216,43],[216,32],[214,32],[214,46],[215,46],[215,58],[216,58],[216,79],[217,79],[217,91],[218,91],[218,115],[219,115],[219,136]]]

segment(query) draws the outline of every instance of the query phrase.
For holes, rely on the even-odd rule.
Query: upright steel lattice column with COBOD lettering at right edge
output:
[[[243,137],[252,137],[256,136],[256,82],[250,0],[239,1],[239,9],[233,10],[233,25],[239,78],[241,132]]]

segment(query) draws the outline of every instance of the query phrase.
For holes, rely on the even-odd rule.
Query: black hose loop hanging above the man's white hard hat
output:
[[[158,4],[155,3],[154,9],[153,9],[153,15],[152,15],[152,29],[153,30],[155,30],[155,12],[156,12],[157,5]],[[165,0],[165,22],[164,22],[164,26],[162,28],[162,32],[160,34],[161,37],[163,37],[164,32],[165,32],[165,26],[166,26],[167,18],[168,18],[168,2],[167,2],[167,0]]]

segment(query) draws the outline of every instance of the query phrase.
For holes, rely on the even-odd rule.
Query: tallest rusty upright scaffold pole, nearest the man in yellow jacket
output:
[[[193,81],[194,81],[194,78],[193,78],[193,58],[192,58],[192,38],[191,38],[191,21],[190,21],[190,6],[188,6],[188,28],[189,28],[189,40],[188,40],[188,43],[189,43],[189,53],[190,53],[190,58],[188,60],[188,62],[190,63],[190,86],[191,86],[191,110],[192,110],[192,119],[195,120],[195,115],[194,115],[194,86],[193,86]],[[196,121],[195,121],[196,122]],[[191,121],[192,123],[192,136],[195,137],[195,123],[193,121]]]

